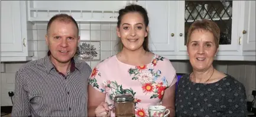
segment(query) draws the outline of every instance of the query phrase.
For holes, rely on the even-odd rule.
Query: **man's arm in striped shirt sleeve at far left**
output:
[[[31,116],[27,92],[24,87],[24,78],[20,71],[15,76],[14,104],[11,116]]]

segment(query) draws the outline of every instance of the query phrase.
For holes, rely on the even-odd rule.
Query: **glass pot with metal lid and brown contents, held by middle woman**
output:
[[[116,95],[114,98],[115,116],[135,116],[134,96],[131,93]]]

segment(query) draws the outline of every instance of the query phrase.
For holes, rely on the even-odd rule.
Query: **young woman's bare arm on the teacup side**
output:
[[[164,91],[164,96],[162,99],[162,105],[166,106],[167,109],[170,110],[169,116],[175,116],[175,90],[176,90],[176,85],[172,85],[168,87]]]

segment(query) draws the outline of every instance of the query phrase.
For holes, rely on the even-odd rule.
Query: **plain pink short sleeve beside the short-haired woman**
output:
[[[171,87],[177,82],[176,70],[174,69],[173,64],[171,64],[171,61],[166,58],[164,58],[164,64],[164,76],[168,82],[168,87]]]

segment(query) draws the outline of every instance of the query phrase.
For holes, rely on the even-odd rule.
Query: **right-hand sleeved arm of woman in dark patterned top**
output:
[[[244,85],[238,82],[227,96],[229,99],[228,102],[226,102],[228,103],[226,116],[247,116],[247,96]]]

